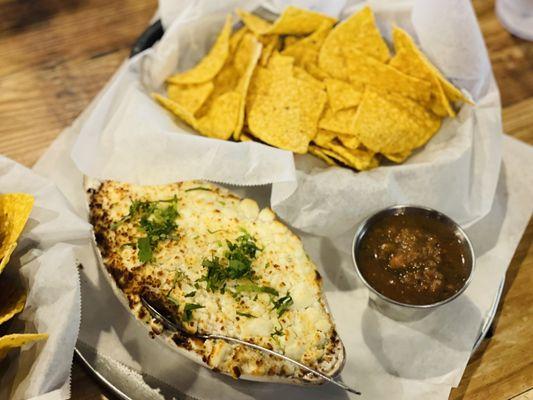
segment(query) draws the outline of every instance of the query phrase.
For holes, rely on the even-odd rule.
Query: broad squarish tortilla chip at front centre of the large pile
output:
[[[317,133],[326,93],[293,77],[291,59],[274,56],[268,65],[269,74],[254,83],[248,128],[265,143],[303,154]]]

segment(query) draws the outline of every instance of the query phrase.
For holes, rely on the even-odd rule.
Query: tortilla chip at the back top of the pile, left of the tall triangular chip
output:
[[[316,31],[324,23],[333,26],[336,22],[336,18],[328,15],[288,6],[274,22],[268,33],[276,33],[278,35],[307,35]]]

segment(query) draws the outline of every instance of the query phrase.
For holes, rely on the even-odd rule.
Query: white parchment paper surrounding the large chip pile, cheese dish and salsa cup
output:
[[[298,3],[317,9],[332,5]],[[344,12],[360,6],[333,3],[340,4],[337,11]],[[175,125],[154,106],[147,92],[157,89],[176,65],[194,64],[208,48],[227,10],[259,4],[204,0],[161,2],[161,15],[175,12],[175,17],[166,18],[171,21],[167,21],[166,36],[155,49],[125,62],[36,169],[57,182],[82,214],[81,171],[100,179],[143,184],[192,178],[238,185],[273,183],[272,190],[260,186],[239,192],[262,204],[268,204],[270,197],[276,211],[302,229],[300,236],[324,276],[326,296],[346,345],[343,380],[372,399],[444,399],[460,380],[531,215],[531,169],[524,171],[523,165],[532,153],[529,147],[506,139],[507,156],[500,170],[498,91],[471,6],[459,0],[427,3],[375,1],[372,5],[385,33],[392,22],[416,32],[433,61],[467,88],[477,105],[464,107],[456,120],[447,120],[442,131],[405,165],[354,174],[325,169],[304,156],[296,159],[294,168],[292,155],[281,150],[262,145],[250,149],[247,144],[187,135],[185,127]],[[283,4],[268,2],[264,6],[276,9]],[[430,27],[443,36],[433,35]],[[432,52],[434,48],[438,51]],[[75,163],[66,154],[71,148]],[[251,151],[256,153],[250,156]],[[478,255],[478,267],[465,294],[410,324],[393,322],[368,308],[367,291],[356,281],[350,260],[352,230],[358,220],[394,202],[429,205],[463,224],[470,223],[468,232]],[[329,386],[236,382],[190,363],[147,339],[146,331],[114,298],[90,245],[78,248],[77,255],[84,264],[80,340],[101,354],[200,399],[347,398]]]

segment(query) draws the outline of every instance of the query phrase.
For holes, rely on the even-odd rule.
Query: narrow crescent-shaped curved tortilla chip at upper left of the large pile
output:
[[[230,34],[231,16],[228,16],[209,53],[194,68],[172,75],[167,79],[167,82],[176,84],[203,83],[213,79],[228,58]]]

